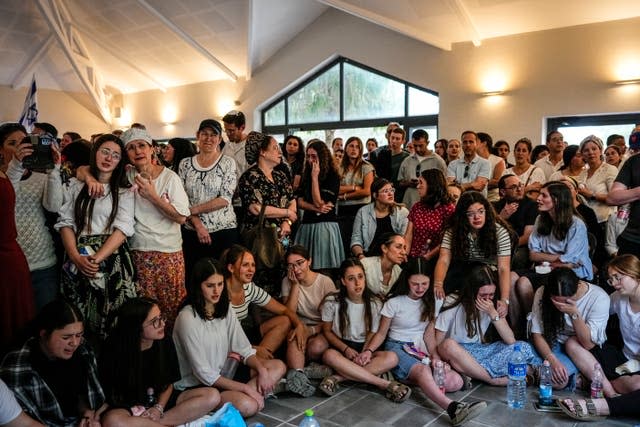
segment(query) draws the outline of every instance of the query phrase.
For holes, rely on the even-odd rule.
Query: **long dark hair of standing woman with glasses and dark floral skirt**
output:
[[[80,190],[78,197],[76,197],[76,202],[74,205],[74,218],[76,222],[76,230],[77,234],[80,234],[82,230],[84,230],[85,225],[88,225],[88,232],[92,234],[94,232],[109,234],[109,228],[113,224],[113,221],[118,214],[118,206],[120,204],[120,189],[128,187],[129,184],[126,181],[126,175],[124,172],[124,156],[125,156],[125,148],[122,140],[115,135],[110,133],[104,134],[100,136],[96,142],[91,147],[91,153],[89,155],[89,172],[95,178],[98,177],[100,171],[98,170],[98,164],[96,161],[96,154],[102,144],[106,142],[113,142],[120,147],[120,161],[116,165],[115,169],[111,173],[111,177],[109,178],[109,192],[111,193],[111,213],[109,214],[109,219],[107,220],[107,226],[104,230],[91,230],[91,218],[93,217],[93,207],[95,205],[95,199],[89,195],[89,187],[85,184]]]

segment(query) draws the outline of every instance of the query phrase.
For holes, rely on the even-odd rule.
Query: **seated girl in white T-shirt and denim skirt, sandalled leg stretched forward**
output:
[[[453,425],[476,417],[487,406],[485,402],[465,403],[449,399],[440,391],[433,379],[431,368],[404,351],[406,344],[423,341],[432,361],[440,360],[435,343],[435,301],[429,291],[427,261],[411,259],[400,278],[391,289],[389,299],[382,307],[380,327],[369,342],[368,349],[377,350],[385,342],[385,350],[392,351],[399,359],[391,372],[398,380],[415,384],[438,406],[446,409]],[[388,337],[387,337],[388,334]],[[446,391],[462,388],[462,378],[456,372],[446,373]]]

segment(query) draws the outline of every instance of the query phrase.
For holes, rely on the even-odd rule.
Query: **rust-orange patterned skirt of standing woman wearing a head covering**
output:
[[[167,319],[166,328],[170,334],[178,316],[178,307],[187,295],[182,251],[133,251],[132,255],[140,294],[158,301],[158,306]]]

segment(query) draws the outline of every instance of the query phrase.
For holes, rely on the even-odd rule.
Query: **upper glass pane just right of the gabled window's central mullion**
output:
[[[344,64],[345,120],[404,116],[404,84]]]

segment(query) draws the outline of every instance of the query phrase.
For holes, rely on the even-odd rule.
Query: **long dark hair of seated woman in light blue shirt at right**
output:
[[[571,191],[564,183],[558,181],[547,182],[542,188],[547,189],[553,200],[555,218],[552,218],[549,212],[540,212],[537,231],[543,236],[553,234],[556,239],[564,240],[573,224],[573,217],[579,216],[573,206]]]

